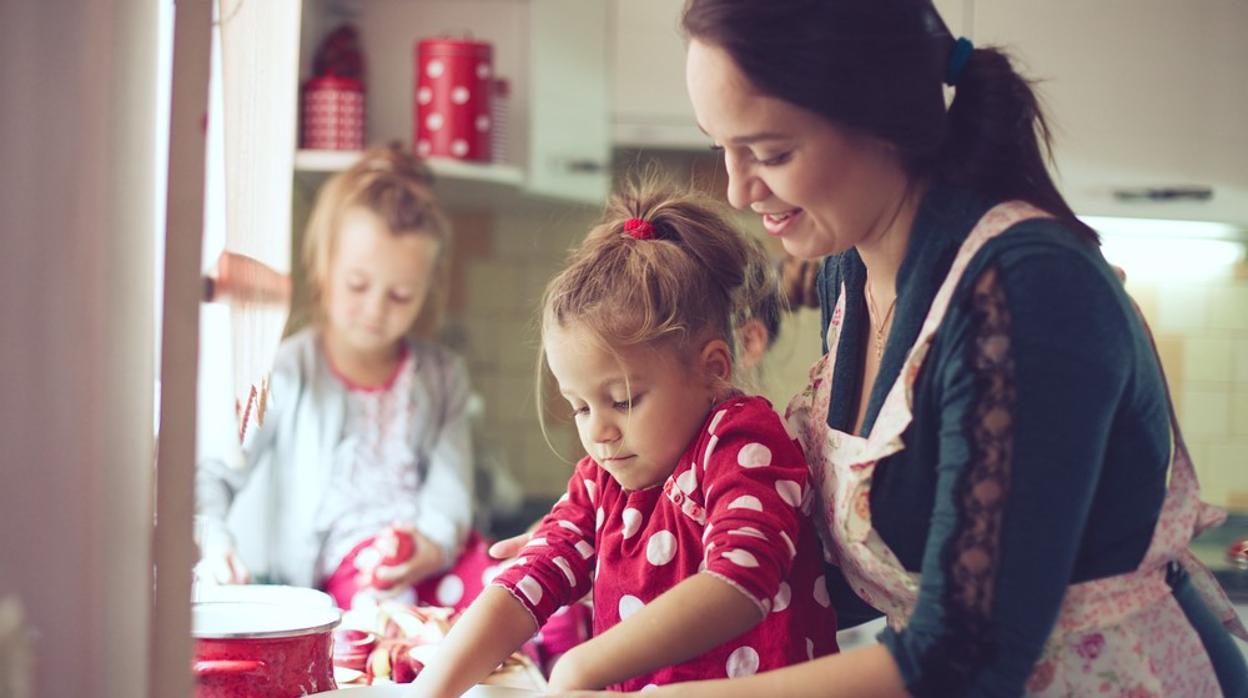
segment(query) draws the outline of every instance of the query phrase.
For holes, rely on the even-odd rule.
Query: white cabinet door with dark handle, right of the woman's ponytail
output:
[[[1021,60],[1080,214],[1248,221],[1248,2],[981,0],[975,40]],[[1116,191],[1207,186],[1207,202]]]

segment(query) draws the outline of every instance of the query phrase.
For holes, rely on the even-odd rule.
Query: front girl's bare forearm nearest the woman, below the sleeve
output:
[[[678,664],[761,619],[759,607],[728,582],[695,574],[623,623],[569,649],[550,673],[550,689],[603,688]]]

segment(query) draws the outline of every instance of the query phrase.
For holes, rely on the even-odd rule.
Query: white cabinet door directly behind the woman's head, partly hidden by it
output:
[[[609,0],[612,141],[625,147],[705,149],[685,94],[684,0]],[[953,34],[970,0],[937,0]]]

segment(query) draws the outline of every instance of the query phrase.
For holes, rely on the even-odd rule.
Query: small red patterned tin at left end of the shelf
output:
[[[300,147],[361,150],[364,147],[364,84],[324,75],[303,84],[303,132]]]

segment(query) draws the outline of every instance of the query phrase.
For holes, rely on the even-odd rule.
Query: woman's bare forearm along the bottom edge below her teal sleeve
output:
[[[589,698],[597,693],[565,692],[563,698]],[[619,697],[620,693],[604,696]],[[633,696],[626,693],[624,696]],[[745,678],[699,681],[661,686],[641,693],[645,698],[904,698],[905,686],[892,654],[879,644],[829,654],[782,669]]]

